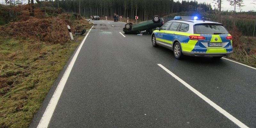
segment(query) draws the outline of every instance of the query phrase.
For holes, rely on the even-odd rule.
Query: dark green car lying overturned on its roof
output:
[[[153,17],[153,20],[147,20],[138,24],[127,23],[125,24],[123,31],[125,34],[137,34],[140,31],[148,31],[152,33],[157,27],[164,25],[164,19],[159,18],[158,15]]]

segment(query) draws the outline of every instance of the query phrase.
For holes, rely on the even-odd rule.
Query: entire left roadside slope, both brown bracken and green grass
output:
[[[77,15],[47,17],[53,13],[35,9],[35,17],[30,17],[27,6],[12,9],[20,14],[19,20],[0,26],[0,127],[5,128],[28,127],[84,38],[74,35],[71,41],[67,25],[72,30],[92,26]]]

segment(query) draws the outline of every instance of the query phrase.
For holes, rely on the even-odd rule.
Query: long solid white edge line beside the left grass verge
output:
[[[93,27],[93,26],[92,26],[92,27]],[[92,28],[88,31],[88,33],[87,33],[86,36],[84,37],[84,40],[82,41],[82,43],[81,43],[80,46],[78,47],[78,49],[77,49],[77,51],[76,51],[74,57],[73,57],[72,60],[70,61],[70,63],[69,63],[69,65],[68,65],[68,67],[67,67],[65,73],[63,74],[63,76],[62,76],[62,78],[61,78],[61,80],[60,80],[60,83],[58,84],[58,86],[57,86],[55,92],[54,92],[53,95],[52,95],[52,99],[50,100],[50,102],[49,102],[47,108],[46,108],[45,111],[44,111],[44,115],[42,116],[42,118],[41,118],[39,124],[37,125],[37,128],[47,128],[47,127],[48,127],[48,125],[49,125],[49,123],[50,123],[50,120],[51,120],[51,118],[52,118],[52,114],[53,114],[53,112],[54,112],[54,110],[55,110],[55,108],[56,108],[56,105],[57,105],[57,103],[58,103],[58,100],[60,99],[61,92],[62,92],[62,90],[63,90],[63,88],[64,88],[64,86],[65,86],[65,84],[66,84],[66,82],[67,82],[67,80],[68,80],[68,76],[69,76],[69,74],[70,74],[70,72],[71,72],[71,70],[72,70],[72,68],[73,68],[73,66],[74,66],[74,64],[75,64],[76,58],[77,58],[77,56],[78,56],[78,54],[79,54],[79,52],[80,52],[80,50],[81,50],[81,48],[82,48],[82,46],[83,46],[83,44],[84,44],[84,41],[85,41],[85,39],[87,38],[87,36],[88,36],[88,34],[89,34],[89,32],[90,32],[91,30],[92,30]]]

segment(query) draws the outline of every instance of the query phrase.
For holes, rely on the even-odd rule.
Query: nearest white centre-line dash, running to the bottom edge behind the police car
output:
[[[249,128],[247,127],[245,124],[243,124],[241,121],[239,121],[238,119],[236,119],[234,116],[232,116],[231,114],[229,114],[227,111],[225,111],[224,109],[220,108],[220,106],[218,106],[217,104],[215,104],[214,102],[212,102],[210,99],[208,99],[207,97],[205,97],[202,93],[198,92],[196,89],[194,89],[192,86],[190,86],[188,83],[186,83],[185,81],[183,81],[182,79],[180,79],[178,76],[176,76],[175,74],[173,74],[170,70],[168,70],[167,68],[165,68],[163,65],[161,64],[157,64],[159,67],[163,68],[167,73],[169,73],[172,77],[174,77],[175,79],[177,79],[178,81],[180,81],[180,83],[182,83],[183,85],[185,85],[189,90],[191,90],[192,92],[194,92],[196,95],[198,95],[200,98],[202,98],[204,101],[206,101],[208,104],[210,104],[213,108],[215,108],[216,110],[218,110],[221,114],[223,114],[224,116],[226,116],[228,119],[230,119],[232,122],[234,122],[236,125],[238,125],[240,128]]]

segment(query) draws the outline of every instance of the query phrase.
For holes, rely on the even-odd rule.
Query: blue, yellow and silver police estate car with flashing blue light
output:
[[[232,36],[221,23],[197,17],[175,16],[156,28],[151,39],[154,47],[173,50],[177,59],[183,55],[221,58],[233,52]]]

